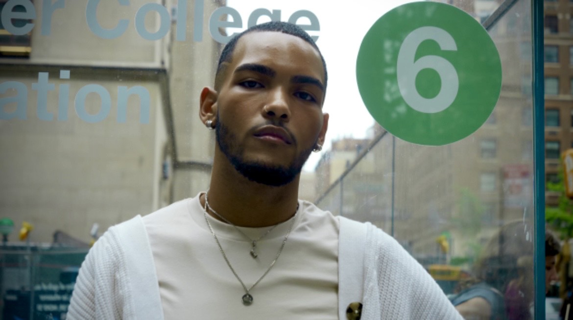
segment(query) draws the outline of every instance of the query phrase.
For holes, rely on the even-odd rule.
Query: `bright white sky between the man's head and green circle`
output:
[[[236,9],[246,25],[250,13],[258,8],[281,10],[281,21],[288,21],[298,10],[309,10],[320,22],[316,41],[328,69],[328,88],[324,112],[330,114],[327,139],[321,153],[312,153],[303,167],[314,171],[321,154],[330,149],[331,141],[341,138],[366,138],[374,119],[366,110],[356,84],[356,56],[362,38],[372,24],[384,13],[411,0],[354,0],[335,2],[323,0],[227,0],[227,6]],[[259,23],[269,21],[261,17]],[[304,20],[301,19],[300,23]],[[244,29],[244,28],[243,28]],[[229,29],[228,32],[241,32]]]

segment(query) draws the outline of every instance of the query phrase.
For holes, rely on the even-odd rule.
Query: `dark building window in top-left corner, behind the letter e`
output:
[[[0,0],[0,12],[3,12],[7,0]],[[13,12],[26,12],[26,8],[22,5],[16,5],[11,10]],[[11,19],[12,24],[16,28],[32,22],[28,19]],[[29,57],[30,51],[30,33],[16,36],[7,32],[5,26],[0,21],[0,57]]]

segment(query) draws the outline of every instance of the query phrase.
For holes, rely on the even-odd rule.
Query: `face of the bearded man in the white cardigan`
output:
[[[324,69],[304,40],[280,32],[245,34],[217,97],[217,143],[252,181],[284,185],[324,141]]]

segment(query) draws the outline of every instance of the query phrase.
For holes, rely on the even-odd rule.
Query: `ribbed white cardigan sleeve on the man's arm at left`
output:
[[[113,227],[93,245],[81,264],[68,320],[134,318],[129,277]]]

